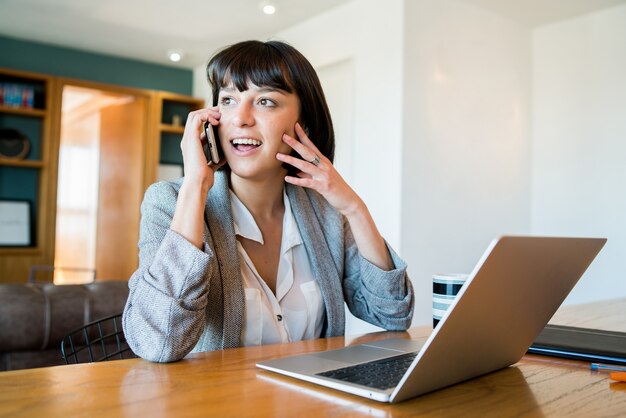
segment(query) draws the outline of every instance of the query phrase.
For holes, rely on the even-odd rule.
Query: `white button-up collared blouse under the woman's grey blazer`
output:
[[[241,243],[237,241],[246,296],[241,331],[244,346],[276,344],[318,338],[324,325],[324,303],[298,225],[283,190],[285,214],[276,278],[276,295],[259,275]],[[252,214],[230,191],[235,233],[263,244],[263,235]]]

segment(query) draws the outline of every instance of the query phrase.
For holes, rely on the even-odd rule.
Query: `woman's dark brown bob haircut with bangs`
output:
[[[295,93],[300,125],[324,156],[333,161],[335,133],[326,98],[311,63],[294,47],[279,41],[244,41],[218,52],[207,65],[217,106],[223,87],[246,91],[250,84]]]

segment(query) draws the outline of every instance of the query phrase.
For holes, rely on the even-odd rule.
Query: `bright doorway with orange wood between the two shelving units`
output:
[[[55,284],[126,280],[137,268],[146,101],[62,87]]]

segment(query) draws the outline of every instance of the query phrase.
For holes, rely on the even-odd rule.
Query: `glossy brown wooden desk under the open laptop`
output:
[[[623,323],[626,299],[619,304]],[[599,312],[603,306],[598,305]],[[588,306],[585,309],[587,314],[592,312]],[[603,319],[601,315],[594,318]],[[611,383],[607,374],[591,372],[588,363],[542,356],[527,355],[504,370],[395,405],[296,382],[255,367],[260,360],[363,341],[398,336],[426,339],[430,331],[424,327],[409,333],[231,349],[171,364],[133,359],[1,372],[0,416],[604,417],[626,413],[626,383]]]

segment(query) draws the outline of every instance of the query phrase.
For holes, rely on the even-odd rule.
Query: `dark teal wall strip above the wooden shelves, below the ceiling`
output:
[[[192,72],[0,36],[0,67],[125,87],[191,94]]]

